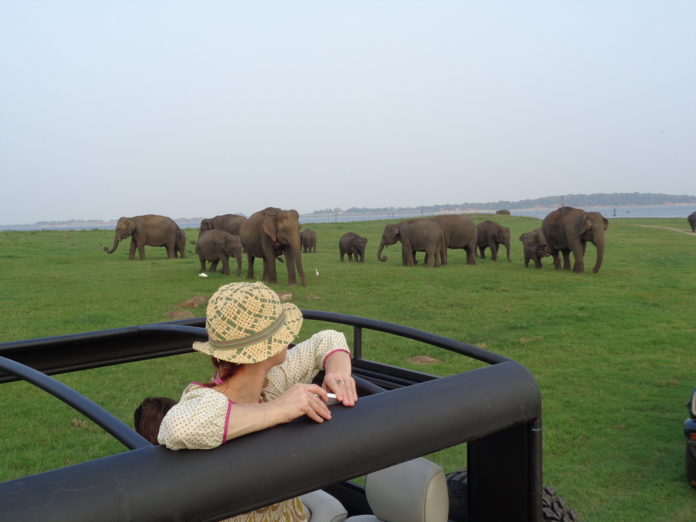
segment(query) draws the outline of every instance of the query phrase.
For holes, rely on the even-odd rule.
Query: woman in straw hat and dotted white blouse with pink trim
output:
[[[324,330],[288,351],[302,314],[263,283],[220,287],[206,316],[208,341],[193,343],[193,349],[212,357],[215,373],[209,383],[189,384],[162,420],[158,441],[167,448],[216,448],[303,415],[324,422],[331,419],[327,392],[344,406],[358,400],[345,336]],[[312,384],[321,370],[324,383]],[[306,516],[293,498],[228,521],[304,522]]]

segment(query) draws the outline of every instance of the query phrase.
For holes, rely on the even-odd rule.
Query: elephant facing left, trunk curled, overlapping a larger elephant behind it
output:
[[[433,264],[439,267],[441,256],[445,248],[445,238],[438,223],[429,219],[416,219],[402,221],[398,225],[387,225],[384,228],[377,259],[381,262],[387,260],[386,255],[382,257],[382,249],[385,246],[393,245],[397,241],[401,242],[401,260],[404,267],[413,267],[416,261],[413,252],[425,252],[425,266],[432,268]],[[446,260],[446,255],[445,255]]]

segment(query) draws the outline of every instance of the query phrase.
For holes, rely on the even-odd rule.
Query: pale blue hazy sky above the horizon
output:
[[[696,193],[695,1],[0,3],[0,223]]]

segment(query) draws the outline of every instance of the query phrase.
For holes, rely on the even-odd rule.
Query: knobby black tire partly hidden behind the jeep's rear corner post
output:
[[[687,455],[688,457],[688,455]],[[693,455],[691,455],[693,458]],[[696,473],[696,459],[693,461]],[[468,522],[469,520],[469,484],[466,469],[454,471],[445,476],[447,491],[450,496],[450,513],[448,519],[452,522]],[[542,509],[544,522],[577,522],[578,513],[569,509],[564,498],[557,496],[555,489],[546,486],[542,492]]]

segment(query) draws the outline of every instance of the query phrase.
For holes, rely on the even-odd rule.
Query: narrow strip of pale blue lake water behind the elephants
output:
[[[616,207],[616,216],[614,216],[614,207],[587,207],[587,212],[600,212],[607,219],[617,218],[637,218],[637,217],[669,217],[669,218],[684,218],[696,212],[696,205],[658,205],[655,207]],[[528,209],[528,210],[511,210],[513,216],[530,216],[544,219],[546,215],[552,212],[552,209]],[[472,212],[473,214],[473,212]],[[475,214],[493,214],[494,210],[481,210]],[[426,216],[432,214],[425,214]],[[303,214],[300,216],[300,223],[345,223],[347,221],[374,221],[375,219],[393,219],[394,221],[420,217],[420,211],[414,212],[376,212],[374,214]],[[181,228],[198,228],[200,221],[189,221],[183,219],[175,219]],[[90,228],[101,228],[104,230],[114,230],[116,222],[109,223],[71,223],[69,225],[0,225],[2,230],[82,230]],[[191,238],[196,239],[196,238]]]

